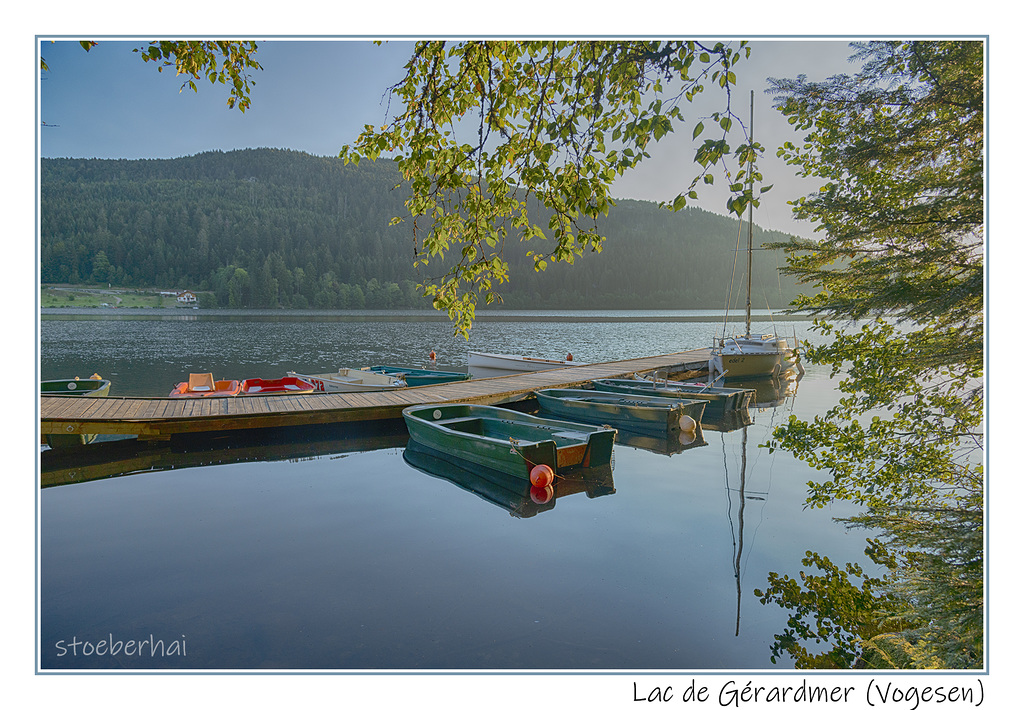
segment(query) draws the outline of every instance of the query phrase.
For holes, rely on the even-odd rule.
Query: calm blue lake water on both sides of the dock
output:
[[[431,348],[463,371],[468,349],[599,362],[703,347],[716,328],[689,311],[517,312],[481,318],[467,343],[423,314],[60,312],[43,316],[39,357],[43,379],[98,372],[113,395],[164,395],[188,372],[423,366]],[[610,471],[547,504],[414,465],[401,425],[226,452],[92,445],[100,463],[44,452],[44,481],[113,477],[40,490],[41,667],[784,667],[769,648],[786,615],[754,589],[799,574],[808,549],[866,562],[863,531],[833,519],[852,510],[805,510],[818,473],[760,446],[836,401],[826,375],[762,391],[777,406],[671,455],[623,441]]]

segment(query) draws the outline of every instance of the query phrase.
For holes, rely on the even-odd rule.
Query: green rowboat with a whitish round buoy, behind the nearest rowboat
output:
[[[535,394],[546,416],[609,424],[662,436],[694,430],[708,406],[706,400],[593,389],[538,389]]]

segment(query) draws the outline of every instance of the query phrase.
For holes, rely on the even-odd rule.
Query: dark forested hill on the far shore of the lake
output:
[[[230,307],[429,307],[415,285],[404,191],[390,161],[344,165],[295,151],[172,160],[44,159],[43,283],[212,292]],[[737,220],[700,209],[618,201],[604,251],[535,274],[506,247],[507,307],[723,307]],[[755,243],[782,240],[755,227]],[[534,247],[542,251],[543,245]],[[755,253],[754,306],[781,307],[775,252]],[[737,281],[737,285],[741,282]],[[215,300],[214,300],[215,299]]]

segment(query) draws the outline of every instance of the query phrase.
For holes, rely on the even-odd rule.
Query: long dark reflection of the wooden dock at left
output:
[[[266,430],[216,435],[178,435],[169,442],[126,438],[40,453],[40,487],[79,484],[133,473],[220,466],[251,461],[298,461],[379,449],[409,442],[400,421],[365,429],[349,425],[291,427],[288,434]]]

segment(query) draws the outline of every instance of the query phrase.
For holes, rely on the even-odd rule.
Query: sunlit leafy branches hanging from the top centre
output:
[[[697,174],[671,206],[695,198],[730,151],[741,168],[727,173],[730,208],[757,202],[760,147],[726,141],[739,124],[733,69],[748,53],[745,43],[419,42],[389,92],[399,113],[367,126],[341,157],[394,157],[412,187],[417,263],[454,257],[426,293],[468,336],[478,299],[500,300],[509,281],[507,240],[550,240],[526,251],[538,272],[600,251],[612,181],[647,158],[683,121],[680,103],[708,86],[722,90],[723,106],[709,117],[721,133],[698,145]],[[696,122],[693,138],[703,130]]]

